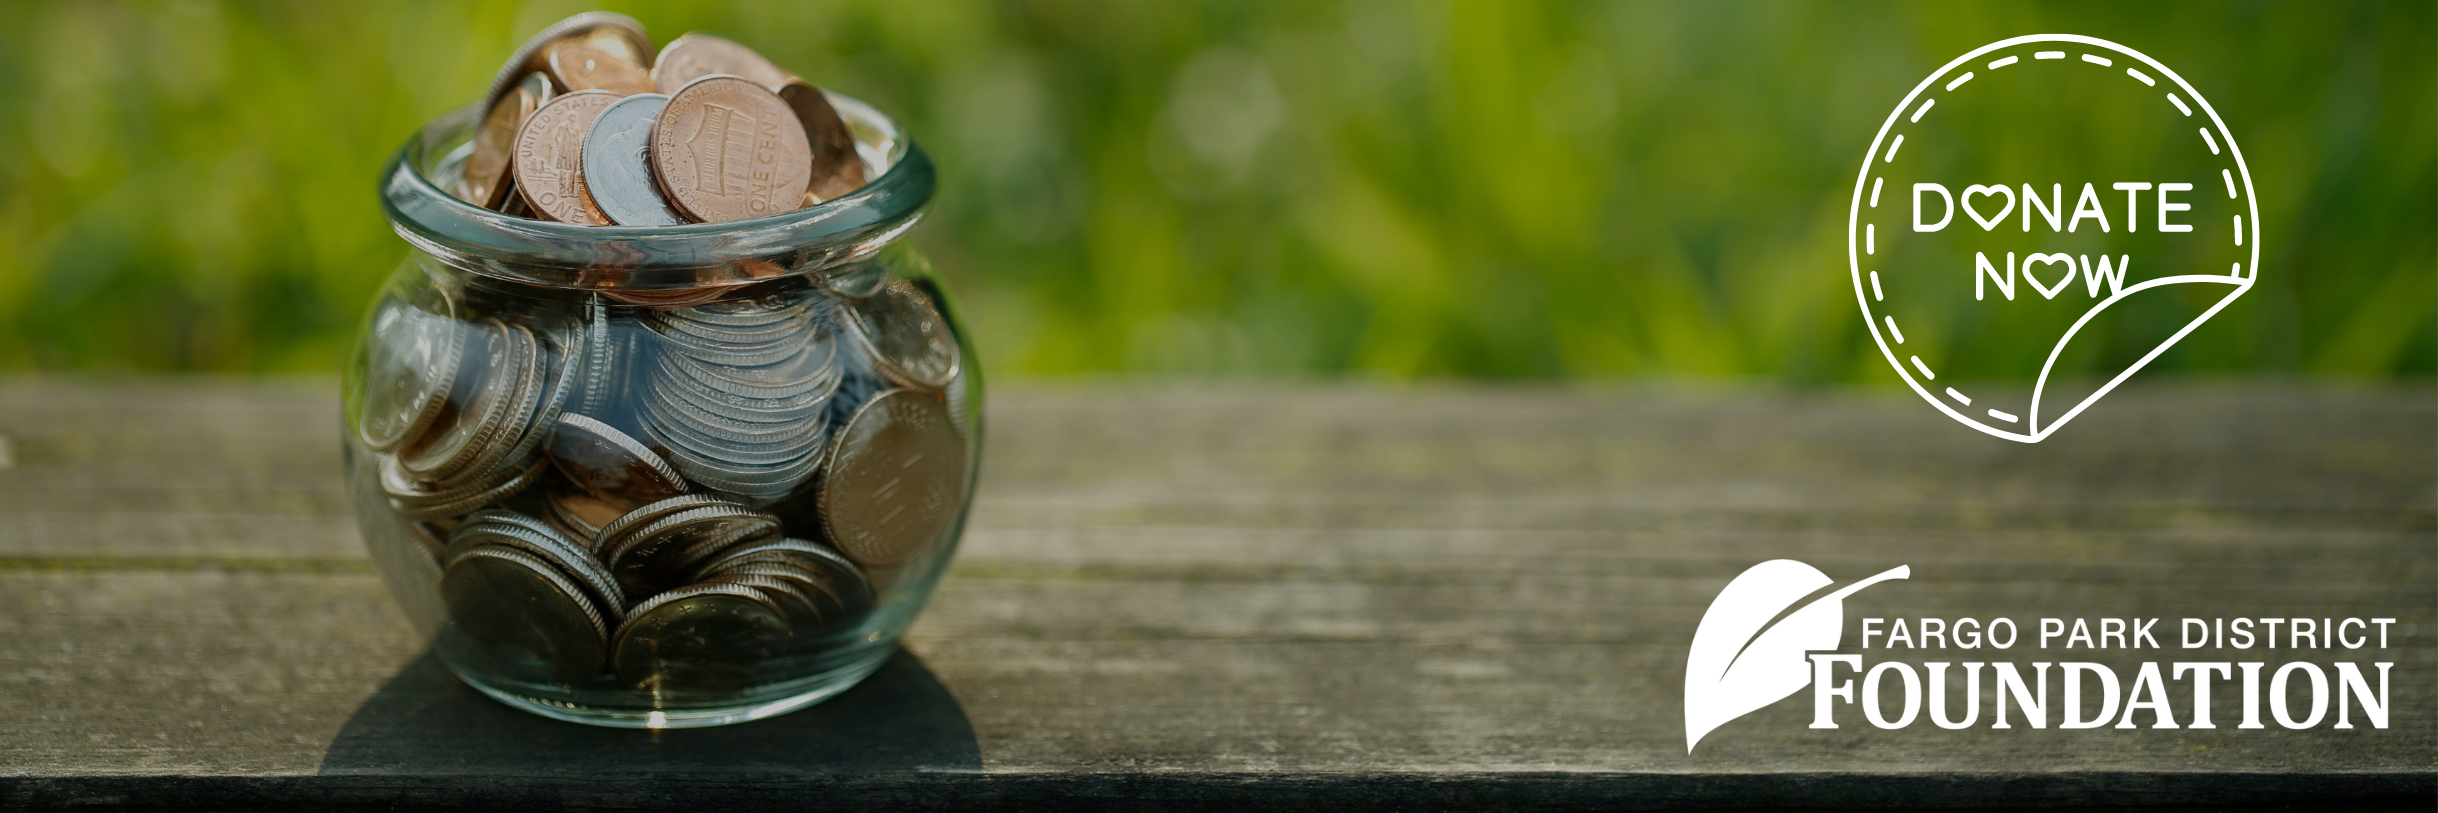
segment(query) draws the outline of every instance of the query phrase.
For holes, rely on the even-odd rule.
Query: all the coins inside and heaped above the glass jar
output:
[[[741,220],[863,183],[822,90],[578,15],[510,59],[458,193],[590,225]],[[427,273],[373,310],[354,427],[453,630],[531,684],[727,691],[856,637],[963,510],[965,369],[934,293],[568,293]],[[456,278],[451,283],[451,278]]]

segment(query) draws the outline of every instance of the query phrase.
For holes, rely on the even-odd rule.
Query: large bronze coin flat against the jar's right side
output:
[[[819,488],[822,530],[846,559],[900,564],[956,522],[965,449],[936,398],[887,391],[839,427]]]

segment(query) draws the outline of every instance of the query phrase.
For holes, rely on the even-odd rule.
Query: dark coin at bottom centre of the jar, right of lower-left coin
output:
[[[787,618],[770,596],[741,584],[675,588],[634,605],[617,627],[610,664],[649,691],[734,691],[758,686],[758,667],[787,649]]]

